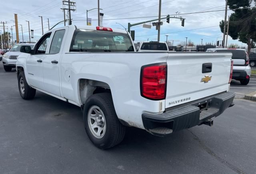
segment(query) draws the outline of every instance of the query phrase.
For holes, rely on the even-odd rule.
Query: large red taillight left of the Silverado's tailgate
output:
[[[166,97],[167,64],[158,63],[141,69],[140,91],[142,97],[163,100]]]

